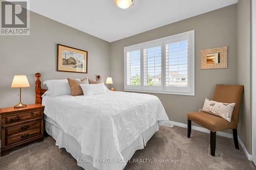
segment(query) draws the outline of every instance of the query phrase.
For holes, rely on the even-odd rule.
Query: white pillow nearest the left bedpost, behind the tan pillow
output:
[[[44,84],[47,85],[47,94],[51,97],[71,94],[70,85],[67,79],[47,80],[44,81]]]

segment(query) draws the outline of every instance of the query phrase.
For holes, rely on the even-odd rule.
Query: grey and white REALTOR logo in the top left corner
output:
[[[0,0],[0,35],[29,35],[29,1]]]

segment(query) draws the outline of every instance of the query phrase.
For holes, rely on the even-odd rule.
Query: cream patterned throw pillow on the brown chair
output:
[[[236,103],[221,103],[206,98],[202,111],[220,116],[228,122],[231,122],[234,105],[236,105]]]

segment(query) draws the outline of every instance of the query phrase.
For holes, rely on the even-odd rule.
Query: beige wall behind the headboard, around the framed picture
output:
[[[110,43],[30,13],[29,36],[0,36],[0,108],[18,103],[18,89],[12,89],[14,75],[25,74],[30,86],[22,91],[23,102],[34,103],[34,74],[41,80],[110,76]],[[88,51],[88,74],[56,71],[57,43]]]

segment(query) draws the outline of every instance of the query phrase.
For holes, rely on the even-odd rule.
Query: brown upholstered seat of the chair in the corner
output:
[[[226,129],[237,129],[237,124],[234,122],[227,122],[225,119],[208,114],[205,112],[190,112],[187,114],[187,119],[209,129],[211,132],[216,132]]]

